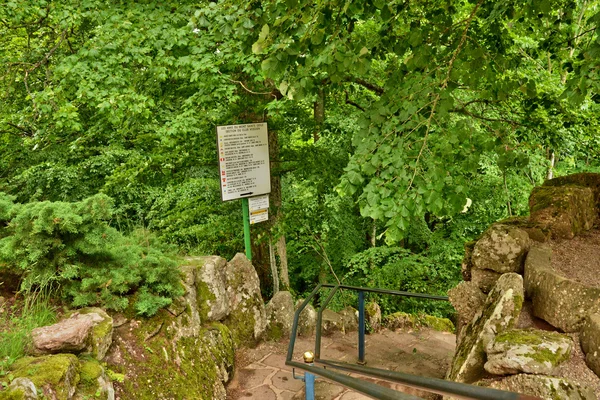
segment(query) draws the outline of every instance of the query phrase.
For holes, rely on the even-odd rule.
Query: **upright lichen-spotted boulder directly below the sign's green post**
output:
[[[236,342],[254,345],[265,334],[267,314],[260,293],[260,281],[252,263],[238,253],[227,263],[227,297],[230,313],[225,319]]]

